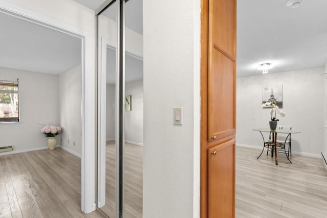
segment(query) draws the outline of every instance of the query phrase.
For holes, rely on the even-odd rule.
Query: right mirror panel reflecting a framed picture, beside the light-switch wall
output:
[[[126,3],[124,217],[143,216],[143,57],[142,1]],[[139,40],[141,38],[141,40]],[[138,45],[138,44],[141,44]],[[128,102],[129,101],[129,102]]]

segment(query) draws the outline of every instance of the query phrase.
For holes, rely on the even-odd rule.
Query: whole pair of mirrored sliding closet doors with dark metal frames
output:
[[[106,1],[96,18],[97,205],[110,218],[142,217],[142,0]]]

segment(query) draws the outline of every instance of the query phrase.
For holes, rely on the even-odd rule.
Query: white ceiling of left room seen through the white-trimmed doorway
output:
[[[81,39],[0,12],[0,67],[60,74],[81,63]]]

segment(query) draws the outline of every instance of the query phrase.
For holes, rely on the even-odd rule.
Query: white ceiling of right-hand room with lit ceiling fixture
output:
[[[321,67],[327,62],[327,1],[247,0],[237,5],[238,77]]]

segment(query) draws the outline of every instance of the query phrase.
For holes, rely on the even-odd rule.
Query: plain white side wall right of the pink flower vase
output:
[[[59,76],[61,147],[81,157],[82,152],[82,67]],[[75,143],[75,145],[74,145]]]

